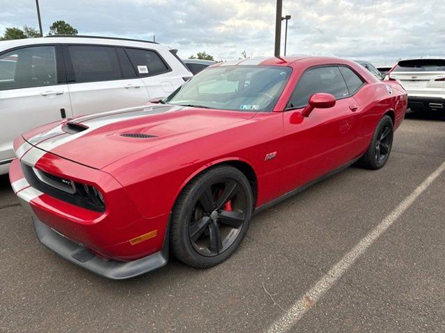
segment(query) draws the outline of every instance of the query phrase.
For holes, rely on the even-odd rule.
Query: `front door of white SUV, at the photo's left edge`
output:
[[[14,157],[13,139],[71,115],[58,45],[25,46],[0,54],[0,166]]]

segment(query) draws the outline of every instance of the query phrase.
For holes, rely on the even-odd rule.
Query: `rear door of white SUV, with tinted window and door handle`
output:
[[[74,116],[130,108],[149,100],[122,49],[67,44],[64,54]]]

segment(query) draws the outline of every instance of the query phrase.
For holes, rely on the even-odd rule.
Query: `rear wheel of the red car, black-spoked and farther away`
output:
[[[391,117],[385,115],[378,122],[371,145],[358,164],[366,169],[377,170],[382,168],[391,153],[393,137],[394,124]]]

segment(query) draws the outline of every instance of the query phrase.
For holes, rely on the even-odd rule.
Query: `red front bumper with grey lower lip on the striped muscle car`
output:
[[[168,215],[145,218],[111,176],[60,157],[46,158],[52,163],[39,167],[52,165],[67,170],[70,178],[79,179],[74,177],[79,174],[97,180],[108,196],[108,207],[105,212],[93,212],[39,191],[26,179],[21,162],[14,160],[10,182],[31,214],[42,244],[68,261],[111,279],[131,278],[167,263]],[[154,237],[132,242],[151,230],[156,230]]]

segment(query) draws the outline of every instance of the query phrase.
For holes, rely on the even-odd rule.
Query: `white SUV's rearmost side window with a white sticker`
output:
[[[161,74],[168,71],[168,67],[154,51],[143,49],[126,49],[133,66],[141,76]]]

